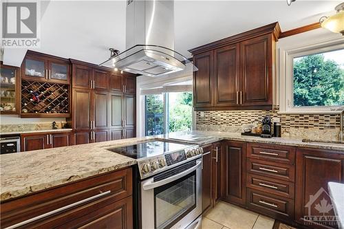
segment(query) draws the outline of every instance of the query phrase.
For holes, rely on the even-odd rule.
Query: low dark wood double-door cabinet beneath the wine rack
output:
[[[21,134],[21,151],[34,151],[71,145],[71,131]]]

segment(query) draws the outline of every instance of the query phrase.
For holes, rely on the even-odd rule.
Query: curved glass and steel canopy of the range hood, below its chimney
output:
[[[192,71],[197,71],[197,67],[188,58],[159,45],[135,45],[100,65],[144,76],[179,72],[186,70],[186,65],[192,65]]]

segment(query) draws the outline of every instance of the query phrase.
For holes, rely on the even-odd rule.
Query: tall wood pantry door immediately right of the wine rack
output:
[[[88,130],[91,123],[91,96],[89,89],[73,90],[74,129]]]

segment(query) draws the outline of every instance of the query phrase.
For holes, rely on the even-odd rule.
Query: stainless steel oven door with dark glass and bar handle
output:
[[[193,160],[142,182],[142,229],[186,228],[201,215],[201,164]]]

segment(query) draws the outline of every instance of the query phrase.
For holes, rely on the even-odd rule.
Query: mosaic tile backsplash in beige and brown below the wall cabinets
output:
[[[196,113],[197,130],[239,132],[241,126],[261,120],[264,116],[280,118],[282,136],[291,138],[336,139],[340,128],[337,114],[278,114],[272,110],[252,111],[201,111]]]

